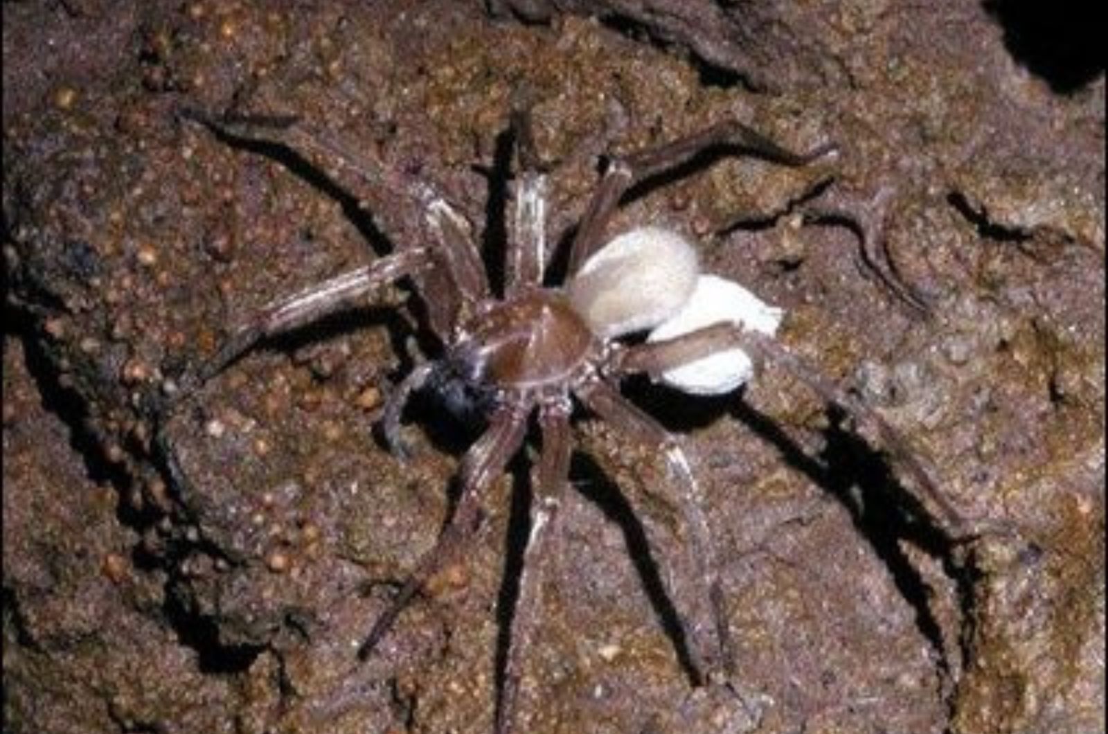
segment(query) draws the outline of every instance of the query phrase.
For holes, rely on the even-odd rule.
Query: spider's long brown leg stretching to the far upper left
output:
[[[432,253],[435,267],[427,272],[421,292],[429,296],[425,300],[431,325],[441,338],[450,335],[463,303],[488,297],[484,266],[469,237],[469,223],[442,194],[413,174],[371,164],[332,133],[312,129],[294,115],[219,115],[199,110],[183,110],[179,114],[217,135],[271,143],[306,156],[356,196],[363,197],[359,192],[369,185],[404,204],[416,204],[422,213],[422,226],[430,230],[438,245]]]

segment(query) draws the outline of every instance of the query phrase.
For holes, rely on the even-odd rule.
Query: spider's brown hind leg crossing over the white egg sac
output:
[[[686,363],[736,347],[746,350],[758,361],[770,360],[781,365],[823,400],[839,406],[850,415],[863,435],[876,436],[894,468],[902,470],[923,496],[925,506],[930,507],[929,511],[937,510],[936,517],[952,538],[968,538],[978,532],[974,529],[974,523],[963,518],[938,490],[932,480],[932,472],[909,448],[907,441],[876,410],[832,383],[814,366],[771,337],[742,330],[731,324],[714,324],[673,339],[628,347],[617,353],[612,367],[620,375],[647,373],[652,377],[658,377]]]

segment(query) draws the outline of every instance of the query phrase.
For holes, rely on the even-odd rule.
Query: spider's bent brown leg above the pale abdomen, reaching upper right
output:
[[[604,228],[628,188],[717,149],[725,153],[741,151],[782,165],[801,166],[830,153],[835,150],[835,146],[825,144],[808,153],[794,153],[781,147],[741,122],[730,120],[658,147],[647,149],[623,157],[613,157],[604,172],[601,185],[593,193],[593,198],[589,201],[588,208],[585,210],[581,225],[577,227],[577,234],[574,236],[570,251],[570,275],[576,273],[602,244]]]

